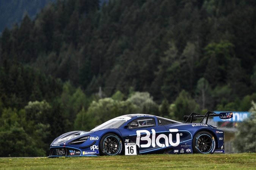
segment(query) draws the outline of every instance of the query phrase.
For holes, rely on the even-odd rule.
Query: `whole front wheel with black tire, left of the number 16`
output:
[[[120,155],[123,150],[122,140],[114,133],[104,134],[100,141],[99,150],[101,155]]]

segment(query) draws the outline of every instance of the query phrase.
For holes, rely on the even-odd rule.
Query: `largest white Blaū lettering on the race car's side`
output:
[[[169,134],[169,137],[166,136],[165,134],[159,134],[157,136],[157,138],[155,138],[155,130],[154,129],[151,129],[152,130],[152,140],[150,138],[150,132],[148,130],[137,130],[136,133],[137,133],[137,139],[136,139],[136,144],[139,146],[139,147],[142,147],[142,148],[147,148],[147,147],[150,147],[152,145],[152,147],[155,147],[155,145],[159,146],[159,147],[168,147],[169,146],[169,143],[171,146],[177,146],[179,145],[180,143],[180,134],[179,133],[176,133],[176,139],[177,141],[174,143],[173,142],[173,134]],[[170,132],[178,132],[179,130],[178,129],[169,129]],[[141,133],[146,133],[146,136],[143,136],[143,137],[140,137]],[[165,144],[161,144],[159,141],[160,139],[163,138],[165,139]],[[140,145],[140,140],[141,141],[147,141],[148,143],[146,144],[141,144]],[[145,142],[143,142],[145,143]]]

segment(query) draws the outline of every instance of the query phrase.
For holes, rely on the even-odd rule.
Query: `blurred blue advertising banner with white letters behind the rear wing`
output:
[[[233,113],[233,117],[231,119],[220,119],[220,117],[213,117],[213,121],[216,122],[242,122],[244,119],[247,119],[250,116],[250,112],[248,111],[214,111],[215,113],[223,113],[230,112]]]

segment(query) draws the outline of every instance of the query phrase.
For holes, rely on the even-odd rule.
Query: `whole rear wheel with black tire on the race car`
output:
[[[214,136],[207,131],[199,131],[193,138],[192,146],[194,153],[214,153]]]

